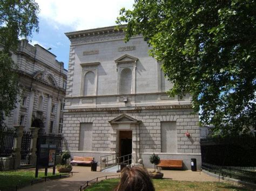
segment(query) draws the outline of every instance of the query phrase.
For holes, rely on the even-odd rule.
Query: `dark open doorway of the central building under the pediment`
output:
[[[119,153],[121,156],[132,153],[132,131],[119,131]],[[122,157],[120,162],[124,161],[131,164],[131,156]]]

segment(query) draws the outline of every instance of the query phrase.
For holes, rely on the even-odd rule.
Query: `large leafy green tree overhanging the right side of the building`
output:
[[[253,0],[136,0],[120,10],[126,38],[142,34],[150,55],[174,84],[190,93],[200,122],[226,133],[255,122],[256,3]]]

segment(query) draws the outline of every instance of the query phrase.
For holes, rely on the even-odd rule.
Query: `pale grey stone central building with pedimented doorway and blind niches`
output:
[[[65,33],[70,59],[63,136],[73,156],[132,153],[133,162],[149,156],[181,159],[200,166],[198,115],[191,97],[169,97],[172,87],[161,63],[148,55],[142,36],[124,43],[122,29],[103,27]]]

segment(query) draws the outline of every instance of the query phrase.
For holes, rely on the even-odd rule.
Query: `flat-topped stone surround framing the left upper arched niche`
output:
[[[81,88],[80,88],[80,95],[84,96],[84,79],[85,75],[88,72],[93,72],[95,75],[95,92],[94,95],[97,95],[97,84],[98,84],[98,65],[100,62],[88,62],[88,63],[80,63],[82,67],[82,79],[81,79]]]

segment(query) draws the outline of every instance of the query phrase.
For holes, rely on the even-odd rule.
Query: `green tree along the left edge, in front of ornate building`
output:
[[[4,116],[15,108],[17,95],[17,66],[11,56],[18,47],[19,38],[32,36],[38,32],[39,8],[35,1],[0,1],[0,126]]]

